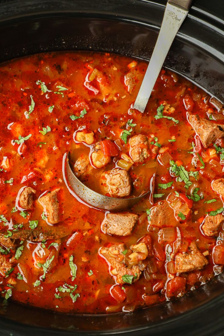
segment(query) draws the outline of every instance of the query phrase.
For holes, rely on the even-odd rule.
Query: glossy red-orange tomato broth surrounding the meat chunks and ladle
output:
[[[184,78],[173,74],[170,71],[162,70],[155,84],[151,98],[148,102],[144,114],[131,108],[141,80],[144,76],[147,63],[136,60],[134,63],[134,84],[130,89],[130,84],[125,85],[125,76],[132,71],[130,64],[133,61],[130,57],[123,57],[109,53],[87,53],[87,52],[56,52],[39,54],[10,61],[0,67],[0,95],[1,95],[1,159],[9,158],[9,168],[0,172],[0,214],[13,224],[23,224],[23,228],[29,228],[29,221],[38,220],[38,227],[43,230],[53,228],[55,232],[62,226],[68,230],[69,235],[44,242],[44,254],[49,256],[49,251],[55,255],[51,263],[51,268],[46,272],[46,278],[40,280],[40,285],[34,287],[36,280],[43,276],[43,268],[35,267],[33,250],[38,243],[23,243],[24,249],[18,260],[14,259],[12,267],[14,270],[8,277],[1,276],[2,291],[12,288],[11,299],[42,308],[53,309],[63,312],[113,312],[122,310],[133,310],[149,304],[157,304],[173,296],[180,296],[191,289],[197,288],[202,283],[212,279],[214,275],[222,271],[222,264],[216,266],[212,258],[213,248],[216,245],[216,238],[209,238],[202,234],[200,229],[201,222],[198,219],[206,215],[206,212],[222,207],[222,202],[211,188],[211,181],[214,176],[205,174],[209,167],[209,158],[203,157],[206,150],[201,147],[196,140],[196,151],[201,153],[205,162],[205,170],[200,171],[197,180],[190,177],[192,186],[200,188],[204,194],[204,199],[193,202],[192,215],[187,221],[174,222],[173,226],[178,227],[182,236],[180,251],[186,252],[187,246],[192,240],[197,242],[201,252],[208,251],[206,256],[209,261],[201,270],[185,272],[176,276],[168,274],[166,248],[172,248],[174,242],[167,242],[160,239],[159,230],[150,225],[147,215],[141,223],[137,223],[132,235],[126,237],[111,236],[102,233],[100,226],[104,219],[104,212],[92,209],[79,203],[68,191],[62,176],[62,157],[65,152],[70,151],[72,162],[76,162],[81,154],[89,156],[91,146],[85,143],[77,143],[73,139],[73,134],[80,127],[86,126],[88,132],[94,133],[94,143],[101,140],[110,140],[113,146],[105,147],[105,154],[115,155],[105,167],[93,168],[83,180],[92,189],[103,192],[100,184],[100,176],[104,170],[110,170],[116,166],[121,154],[129,153],[129,144],[125,144],[120,139],[122,131],[128,120],[133,119],[136,126],[130,136],[136,134],[153,135],[158,138],[161,148],[159,152],[168,152],[172,160],[183,165],[186,170],[193,169],[191,160],[192,141],[195,132],[186,119],[186,112],[191,111],[200,117],[206,118],[207,110],[214,109],[213,104],[208,100],[205,103],[203,97],[205,93]],[[94,69],[99,72],[88,85],[86,76],[93,73]],[[89,78],[88,77],[88,78]],[[94,77],[94,76],[93,76]],[[88,79],[87,78],[87,79]],[[36,82],[40,80],[45,83],[48,90],[43,93],[41,86]],[[126,83],[127,84],[127,83]],[[57,86],[62,86],[67,90],[59,91]],[[62,94],[56,94],[55,91]],[[35,107],[27,119],[24,113],[29,111],[31,96],[35,102]],[[167,114],[179,120],[178,124],[173,121],[161,118],[156,120],[156,109],[163,103],[169,103],[174,107],[174,114]],[[54,106],[52,112],[48,109]],[[81,111],[86,110],[83,117],[72,120],[71,115],[80,116]],[[107,121],[109,122],[107,123]],[[11,123],[13,123],[11,126]],[[40,131],[43,127],[50,127],[50,131],[42,135]],[[23,137],[32,134],[24,141],[23,149],[18,154],[18,144],[11,143],[18,136]],[[128,136],[128,139],[129,137]],[[169,142],[168,139],[175,139]],[[119,140],[119,144],[114,145],[114,141]],[[46,142],[46,144],[44,143]],[[156,142],[156,141],[154,141]],[[121,146],[121,147],[120,147]],[[151,145],[150,151],[154,145]],[[119,150],[122,148],[122,153]],[[156,146],[155,146],[156,147]],[[213,148],[213,145],[209,146]],[[118,157],[117,157],[118,151]],[[174,192],[182,193],[185,196],[186,189],[183,182],[177,182],[169,174],[169,165],[162,166],[156,160],[156,156],[150,152],[144,164],[132,165],[129,174],[134,184],[132,196],[139,195],[149,183],[149,177],[156,169],[154,194],[165,194],[162,198],[154,198],[154,203],[165,200],[167,196]],[[177,161],[178,160],[178,161]],[[215,158],[219,164],[218,156]],[[139,178],[139,176],[141,178]],[[215,173],[215,177],[222,177],[222,169]],[[13,178],[12,185],[5,181]],[[23,182],[21,182],[23,181]],[[173,181],[171,187],[161,190],[158,183],[168,183]],[[15,206],[15,199],[22,186],[30,186],[36,190],[36,201],[33,210],[25,210],[28,214],[24,218],[20,211],[11,213]],[[47,190],[60,188],[58,192],[60,222],[48,225],[42,219],[43,208],[38,202],[38,197]],[[189,195],[190,189],[187,191]],[[204,204],[205,200],[216,199],[216,202]],[[184,202],[184,197],[181,199]],[[188,202],[191,205],[192,202]],[[139,216],[145,214],[146,209],[151,208],[148,197],[135,206],[131,212]],[[4,222],[0,223],[2,230],[8,228]],[[166,226],[165,226],[166,227]],[[9,230],[12,227],[9,226]],[[176,229],[175,229],[176,230]],[[74,234],[77,234],[74,236]],[[102,246],[110,246],[114,243],[124,242],[128,247],[137,242],[145,235],[150,236],[147,241],[149,260],[152,260],[153,268],[144,270],[140,279],[134,283],[116,285],[114,297],[110,294],[110,288],[115,284],[113,277],[108,272],[108,264],[98,254]],[[71,238],[73,236],[73,239]],[[67,244],[71,238],[70,244]],[[21,239],[20,239],[21,240]],[[47,247],[49,243],[57,242],[56,248]],[[182,250],[181,250],[182,249]],[[45,252],[44,252],[45,251]],[[48,252],[47,252],[48,251]],[[179,252],[180,252],[179,251]],[[221,251],[222,252],[222,251]],[[5,256],[6,260],[14,256],[13,250]],[[74,256],[74,263],[77,266],[76,277],[72,280],[69,257]],[[216,253],[216,258],[218,258]],[[223,256],[220,257],[223,259]],[[222,262],[222,260],[221,260]],[[223,261],[224,263],[224,261]],[[24,280],[17,279],[17,273],[23,268]],[[167,287],[167,281],[172,280]],[[77,285],[77,289],[72,292],[59,292],[57,288],[65,284],[68,286]],[[167,293],[166,289],[169,290]],[[124,293],[122,292],[124,291]],[[56,298],[55,293],[61,296]],[[79,294],[73,302],[70,293]],[[5,296],[5,292],[2,294]],[[117,297],[117,300],[116,300]]]

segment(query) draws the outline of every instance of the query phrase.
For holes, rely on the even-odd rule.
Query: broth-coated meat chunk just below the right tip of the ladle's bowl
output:
[[[174,211],[169,206],[166,200],[159,201],[154,207],[150,209],[150,225],[161,227],[176,226],[177,220],[174,217]]]

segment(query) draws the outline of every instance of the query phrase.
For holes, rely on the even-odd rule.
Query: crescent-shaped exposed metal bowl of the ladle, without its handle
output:
[[[65,169],[67,175],[66,178],[68,179],[75,194],[81,200],[83,200],[84,202],[86,202],[87,204],[91,205],[94,208],[110,211],[125,210],[136,205],[150,192],[149,190],[144,194],[133,198],[114,198],[101,195],[88,188],[76,177],[69,163],[69,153],[66,153],[65,162],[66,162]]]

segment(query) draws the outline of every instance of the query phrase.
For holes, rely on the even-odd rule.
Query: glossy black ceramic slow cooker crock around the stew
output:
[[[2,0],[0,62],[56,50],[149,59],[164,8],[163,0]],[[194,1],[165,66],[224,101],[223,0]],[[0,336],[218,336],[223,316],[220,274],[182,298],[130,313],[77,316],[0,301]]]

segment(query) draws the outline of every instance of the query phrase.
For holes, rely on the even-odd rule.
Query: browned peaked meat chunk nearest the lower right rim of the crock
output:
[[[201,269],[208,264],[206,257],[197,249],[196,243],[192,242],[188,251],[185,253],[178,253],[175,259],[176,271],[184,273],[193,271],[194,269]]]

